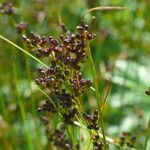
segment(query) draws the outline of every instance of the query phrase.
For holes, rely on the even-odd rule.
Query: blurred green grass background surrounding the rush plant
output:
[[[0,2],[4,2],[0,0]],[[96,6],[125,6],[123,11],[96,11],[85,16],[97,34],[91,50],[101,95],[111,90],[105,105],[107,132],[119,136],[131,131],[142,149],[150,116],[150,1],[149,0],[13,0],[16,14],[0,14],[0,34],[24,47],[13,22],[25,21],[27,33],[58,36],[62,33],[58,13],[68,30],[74,31],[81,14]],[[91,22],[92,16],[96,20]],[[13,22],[12,22],[13,20]],[[29,52],[30,49],[26,49]],[[0,40],[0,150],[51,149],[36,109],[44,96],[35,88],[38,64]],[[84,74],[90,78],[88,63]],[[87,103],[88,102],[88,103]],[[87,111],[96,106],[92,92],[84,97]],[[54,122],[53,116],[51,121]],[[150,149],[150,143],[148,145]]]

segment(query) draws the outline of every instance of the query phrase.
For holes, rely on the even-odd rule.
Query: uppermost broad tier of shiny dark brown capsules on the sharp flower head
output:
[[[60,35],[61,44],[52,36],[41,37],[33,32],[29,37],[23,36],[23,39],[29,46],[37,47],[38,57],[53,55],[55,61],[79,70],[79,64],[84,62],[86,57],[87,42],[94,35],[88,32],[88,25],[83,22],[77,26],[77,31],[76,34],[67,31],[65,35]]]

